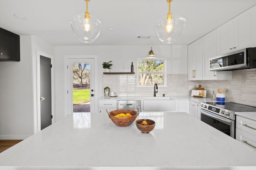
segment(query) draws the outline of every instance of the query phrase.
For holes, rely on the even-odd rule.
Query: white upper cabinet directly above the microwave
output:
[[[217,55],[256,44],[256,6],[217,28]]]

